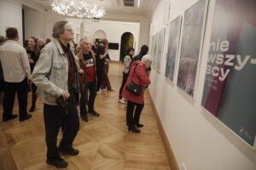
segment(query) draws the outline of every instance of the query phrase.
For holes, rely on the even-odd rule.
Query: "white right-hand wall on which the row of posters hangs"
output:
[[[215,2],[211,0],[209,3],[194,99],[177,88],[176,83],[167,82],[165,77],[169,32],[168,25],[163,25],[163,16],[164,8],[170,2],[169,23],[197,0],[162,0],[151,20],[150,36],[163,27],[166,27],[167,31],[160,73],[151,71],[152,84],[149,91],[178,166],[182,168],[184,164],[187,170],[255,170],[256,152],[201,106]],[[177,82],[177,71],[174,82]]]

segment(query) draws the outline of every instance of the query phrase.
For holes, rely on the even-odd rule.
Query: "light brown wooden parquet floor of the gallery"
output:
[[[71,170],[130,170],[169,169],[166,152],[148,96],[141,116],[142,133],[127,131],[125,105],[118,103],[123,65],[111,63],[109,78],[114,91],[96,96],[96,111],[100,117],[90,116],[89,122],[80,121],[80,130],[74,141],[79,156],[62,156]],[[28,109],[31,104],[31,93]],[[43,102],[39,97],[32,118],[19,122],[16,118],[2,122],[0,114],[0,170],[56,169],[45,163]],[[15,101],[14,113],[18,112]],[[59,134],[58,141],[61,139]]]

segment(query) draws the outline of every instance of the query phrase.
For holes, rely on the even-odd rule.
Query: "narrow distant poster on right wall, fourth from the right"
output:
[[[156,50],[156,71],[160,72],[161,60],[164,50],[166,28],[162,28],[158,32],[157,50]]]

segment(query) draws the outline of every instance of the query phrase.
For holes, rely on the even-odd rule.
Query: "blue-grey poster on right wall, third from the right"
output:
[[[169,42],[166,57],[166,77],[173,82],[182,16],[177,16],[169,26]]]

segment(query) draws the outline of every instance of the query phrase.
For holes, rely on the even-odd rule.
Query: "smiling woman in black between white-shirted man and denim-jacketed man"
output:
[[[35,37],[29,37],[28,38],[28,46],[26,48],[26,54],[29,60],[30,69],[31,72],[34,70],[34,66],[36,65],[38,58],[39,58],[39,48],[38,48],[38,42]],[[37,87],[32,83],[32,105],[30,108],[30,112],[35,111],[36,108],[36,101],[38,98]]]

